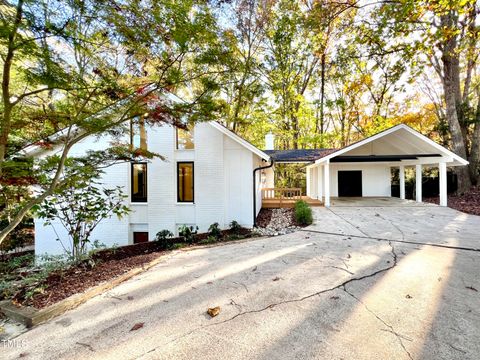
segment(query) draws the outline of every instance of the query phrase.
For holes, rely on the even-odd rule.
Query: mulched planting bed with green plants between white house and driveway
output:
[[[192,244],[182,238],[171,239],[171,249],[196,244],[225,242],[256,236],[248,229],[239,229],[232,234],[222,231],[214,240],[208,234],[198,234]],[[18,306],[33,306],[37,309],[55,304],[74,294],[123,275],[162,256],[167,251],[158,242],[127,245],[114,249],[99,250],[77,264],[52,267],[45,273],[33,265],[33,257],[3,262],[0,266],[0,300],[10,299]],[[41,275],[41,273],[43,275]],[[3,283],[3,284],[2,284]]]

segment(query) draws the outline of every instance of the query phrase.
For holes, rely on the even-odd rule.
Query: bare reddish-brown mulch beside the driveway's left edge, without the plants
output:
[[[230,232],[222,231],[223,239],[218,242],[228,241]],[[236,235],[243,238],[252,236],[249,229],[240,229]],[[208,234],[196,235],[194,246],[205,240]],[[182,238],[171,239],[173,243],[182,242]],[[23,291],[17,293],[13,302],[22,306],[33,306],[37,309],[45,308],[55,304],[74,294],[99,285],[102,282],[112,280],[131,269],[148,264],[159,256],[168,252],[160,247],[157,242],[146,242],[141,244],[127,245],[115,249],[106,249],[96,252],[90,260],[73,265],[67,269],[57,270],[50,273],[47,279],[41,284],[44,287],[42,293],[26,299]]]

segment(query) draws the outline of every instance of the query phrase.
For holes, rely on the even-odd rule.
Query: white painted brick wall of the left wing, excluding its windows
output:
[[[132,213],[122,220],[116,217],[104,220],[95,231],[93,239],[107,246],[126,245],[133,242],[133,231],[148,231],[153,240],[160,230],[177,233],[182,224],[197,224],[200,231],[218,222],[222,228],[232,220],[244,226],[253,223],[252,172],[255,167],[265,165],[258,156],[231,140],[228,136],[208,123],[195,127],[195,150],[175,149],[175,129],[170,126],[154,127],[147,130],[150,151],[164,156],[151,160],[147,167],[148,202],[126,203]],[[102,150],[109,146],[108,138],[91,137],[76,145],[72,154]],[[195,203],[177,203],[177,161],[194,161]],[[103,183],[106,187],[122,186],[130,196],[129,163],[115,165],[106,170]],[[257,178],[257,212],[261,207],[260,174]],[[67,234],[58,224],[55,231],[44,227],[41,220],[36,222],[36,252],[61,253],[62,247],[55,240],[67,240]],[[58,236],[57,236],[58,234]]]

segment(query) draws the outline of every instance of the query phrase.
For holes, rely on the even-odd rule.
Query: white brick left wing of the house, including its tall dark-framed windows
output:
[[[146,139],[137,136],[133,142],[140,145],[146,140],[148,150],[165,160],[122,163],[106,169],[102,183],[123,187],[132,212],[120,220],[112,217],[102,221],[92,241],[121,246],[151,241],[164,229],[176,234],[181,225],[197,225],[206,231],[212,223],[227,228],[233,220],[253,226],[254,169],[267,165],[268,155],[216,122],[197,124],[188,133],[169,125],[147,125],[145,130]],[[107,138],[88,137],[70,154],[102,150],[109,144]],[[255,177],[257,215],[262,207],[258,171]],[[57,238],[68,243],[61,224],[44,226],[42,219],[35,219],[36,254],[61,254]]]

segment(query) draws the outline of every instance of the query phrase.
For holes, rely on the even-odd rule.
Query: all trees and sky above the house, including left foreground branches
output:
[[[161,157],[120,141],[138,119],[217,120],[260,148],[272,131],[279,149],[338,148],[405,123],[470,161],[456,169],[464,192],[480,165],[479,7],[476,0],[4,1],[0,244],[79,179],[119,161]],[[70,156],[85,137],[107,133],[118,143]],[[61,151],[19,156],[30,143]]]

